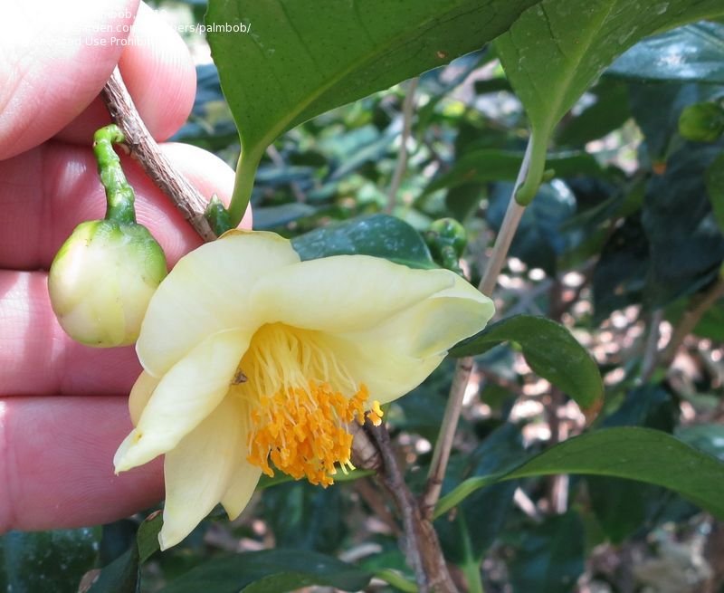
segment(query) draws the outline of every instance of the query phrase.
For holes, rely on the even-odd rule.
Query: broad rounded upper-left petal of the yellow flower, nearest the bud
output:
[[[196,344],[220,330],[255,330],[249,293],[264,274],[299,255],[278,234],[234,232],[183,257],[148,305],[136,350],[160,377]]]

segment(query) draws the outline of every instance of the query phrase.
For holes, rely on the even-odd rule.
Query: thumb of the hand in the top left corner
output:
[[[98,95],[139,0],[14,2],[0,36],[0,159],[51,138]]]

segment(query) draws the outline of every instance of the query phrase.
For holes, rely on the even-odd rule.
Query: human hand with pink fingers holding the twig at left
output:
[[[66,10],[14,3],[13,31],[0,38],[0,533],[113,521],[163,495],[159,461],[113,473],[141,370],[133,347],[90,349],[68,338],[52,313],[47,270],[76,225],[104,215],[90,143],[109,122],[98,94],[115,65],[157,140],[186,120],[195,71],[182,40],[138,0]],[[231,195],[233,171],[221,160],[162,148],[203,195]],[[123,163],[138,222],[173,265],[201,240],[137,163]]]

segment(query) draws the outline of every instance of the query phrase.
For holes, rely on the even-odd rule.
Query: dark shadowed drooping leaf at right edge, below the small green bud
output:
[[[711,211],[705,172],[720,151],[686,144],[647,188],[642,221],[650,245],[647,295],[653,305],[696,292],[719,274],[724,235]]]

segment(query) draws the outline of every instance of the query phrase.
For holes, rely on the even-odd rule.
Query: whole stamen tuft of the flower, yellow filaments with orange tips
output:
[[[365,422],[369,394],[357,385],[317,332],[279,323],[258,330],[239,364],[232,391],[247,403],[247,460],[273,476],[269,461],[295,479],[328,486],[350,461],[348,424]],[[367,416],[378,425],[377,402]]]

